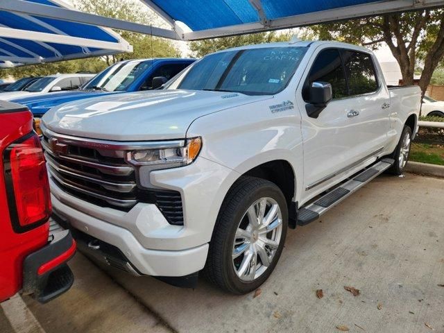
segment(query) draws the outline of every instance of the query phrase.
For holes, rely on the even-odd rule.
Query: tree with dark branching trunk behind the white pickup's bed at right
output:
[[[340,40],[372,49],[385,42],[400,65],[405,85],[413,84],[416,65],[422,62],[419,81],[425,94],[434,69],[444,55],[444,10],[421,10],[312,26],[321,40]]]

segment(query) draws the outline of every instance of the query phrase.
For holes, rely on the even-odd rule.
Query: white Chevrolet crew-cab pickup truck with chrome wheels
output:
[[[47,112],[53,211],[111,266],[188,287],[203,271],[246,293],[289,227],[402,173],[420,95],[388,88],[373,53],[350,44],[213,53],[162,90]]]

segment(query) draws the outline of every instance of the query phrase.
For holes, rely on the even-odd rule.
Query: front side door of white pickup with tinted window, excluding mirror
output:
[[[333,99],[317,117],[309,117],[306,112],[308,87],[314,82],[330,83]],[[296,101],[302,114],[304,189],[307,195],[357,160],[353,137],[358,126],[356,119],[347,117],[355,105],[350,105],[347,98],[347,80],[339,49],[316,50],[301,83]]]

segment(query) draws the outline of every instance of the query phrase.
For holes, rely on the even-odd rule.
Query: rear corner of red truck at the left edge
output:
[[[67,261],[76,242],[50,223],[46,163],[31,112],[0,101],[0,123],[0,302],[18,291],[48,302],[74,282]]]

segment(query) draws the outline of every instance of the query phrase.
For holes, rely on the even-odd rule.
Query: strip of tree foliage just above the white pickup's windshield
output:
[[[289,41],[292,35],[293,31],[280,34],[273,31],[271,33],[253,33],[250,35],[214,38],[212,40],[198,40],[196,42],[190,42],[189,49],[194,53],[194,56],[203,57],[205,54],[229,49],[230,47]],[[302,33],[299,32],[298,37],[300,39],[308,39],[309,35],[302,31]]]

